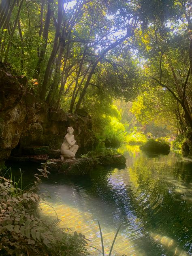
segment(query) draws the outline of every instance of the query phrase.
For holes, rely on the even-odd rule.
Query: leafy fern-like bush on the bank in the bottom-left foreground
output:
[[[84,235],[70,235],[38,216],[37,183],[26,192],[0,176],[0,255],[73,256],[87,255]]]

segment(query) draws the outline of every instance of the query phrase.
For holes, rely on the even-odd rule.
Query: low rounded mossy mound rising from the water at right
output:
[[[140,149],[154,154],[168,154],[170,152],[170,146],[166,141],[156,141],[154,139],[149,139],[140,146]]]

